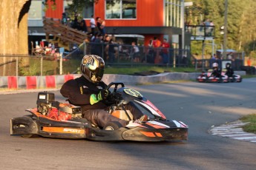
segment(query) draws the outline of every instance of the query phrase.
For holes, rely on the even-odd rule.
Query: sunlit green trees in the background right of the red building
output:
[[[186,0],[191,1],[191,0]],[[193,7],[200,13],[192,13],[188,18],[191,24],[197,20],[209,18],[214,21],[215,39],[217,49],[223,43],[223,35],[220,34],[220,27],[224,25],[225,0],[192,0]],[[228,41],[227,48],[237,51],[245,51],[247,55],[256,50],[256,16],[255,0],[229,0],[228,7]],[[207,42],[206,42],[207,43]],[[210,47],[206,47],[210,49]],[[191,42],[192,53],[201,53],[202,42]]]

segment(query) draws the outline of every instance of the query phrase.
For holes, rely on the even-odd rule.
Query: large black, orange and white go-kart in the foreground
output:
[[[114,86],[114,88],[111,88]],[[111,88],[111,89],[110,89]],[[37,107],[27,109],[30,115],[10,120],[10,135],[22,137],[55,137],[88,140],[136,140],[136,141],[181,141],[188,140],[188,126],[177,120],[168,120],[162,112],[140,92],[126,88],[123,83],[112,82],[107,90],[111,92],[108,102],[110,114],[124,120],[132,120],[131,112],[124,110],[124,104],[133,101],[153,115],[141,123],[122,127],[118,122],[109,122],[103,129],[93,126],[82,118],[81,108],[70,103],[55,101],[54,93],[39,92]],[[144,112],[144,111],[142,111]]]

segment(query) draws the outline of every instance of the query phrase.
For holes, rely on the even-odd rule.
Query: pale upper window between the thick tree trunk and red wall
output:
[[[28,19],[42,19],[42,1],[31,1]]]

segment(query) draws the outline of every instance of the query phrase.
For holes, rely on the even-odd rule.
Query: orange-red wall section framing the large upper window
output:
[[[163,0],[137,0],[137,19],[105,19],[105,1],[95,4],[95,18],[106,21],[106,27],[163,26]]]

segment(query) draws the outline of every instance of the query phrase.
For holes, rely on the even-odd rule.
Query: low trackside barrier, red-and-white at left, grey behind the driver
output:
[[[237,75],[246,75],[245,71],[235,71]],[[121,81],[125,85],[145,83],[159,83],[177,80],[195,80],[200,72],[164,72],[157,75],[112,75],[105,74],[102,81],[110,84],[113,81]],[[46,76],[2,76],[0,88],[7,89],[51,89],[59,88],[66,81],[79,78],[80,74],[73,75],[46,75]],[[18,79],[17,79],[18,78]]]

